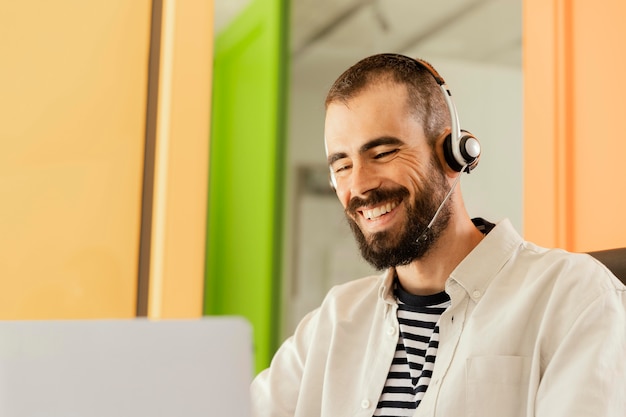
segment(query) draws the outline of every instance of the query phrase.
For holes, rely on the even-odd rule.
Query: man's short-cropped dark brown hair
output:
[[[325,106],[346,103],[366,87],[386,81],[406,86],[409,106],[424,128],[431,145],[446,127],[450,114],[441,88],[433,75],[417,60],[400,54],[378,54],[364,58],[337,78],[326,96]]]

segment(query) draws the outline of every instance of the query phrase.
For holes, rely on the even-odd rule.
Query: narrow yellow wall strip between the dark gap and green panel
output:
[[[164,0],[150,317],[202,315],[213,2]]]

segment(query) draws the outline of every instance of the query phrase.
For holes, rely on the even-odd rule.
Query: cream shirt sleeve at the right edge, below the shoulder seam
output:
[[[605,291],[576,317],[545,367],[536,417],[624,417],[626,293]]]

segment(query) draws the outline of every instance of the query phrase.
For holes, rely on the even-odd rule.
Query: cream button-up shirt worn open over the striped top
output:
[[[371,416],[398,340],[393,271],[333,288],[251,386],[254,416]],[[415,416],[626,416],[626,288],[499,223],[446,282]]]

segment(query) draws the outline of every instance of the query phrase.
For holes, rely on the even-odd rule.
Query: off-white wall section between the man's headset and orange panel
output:
[[[478,167],[461,180],[471,216],[523,227],[521,68],[433,60],[455,101],[461,127],[481,142]]]

